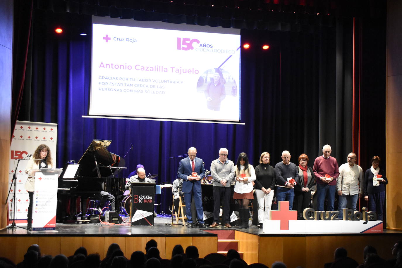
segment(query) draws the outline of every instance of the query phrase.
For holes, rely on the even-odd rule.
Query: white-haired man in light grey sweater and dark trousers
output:
[[[213,224],[219,225],[219,210],[223,203],[224,215],[222,221],[226,228],[230,228],[230,182],[234,178],[234,163],[228,160],[228,149],[219,149],[219,158],[211,163],[211,176],[213,178]]]

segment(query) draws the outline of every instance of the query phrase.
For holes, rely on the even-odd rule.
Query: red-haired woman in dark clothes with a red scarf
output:
[[[314,178],[313,169],[307,166],[308,156],[302,153],[299,156],[299,181],[295,185],[295,199],[293,200],[293,208],[297,209],[297,219],[303,219],[304,209],[310,207],[311,188],[316,179]]]

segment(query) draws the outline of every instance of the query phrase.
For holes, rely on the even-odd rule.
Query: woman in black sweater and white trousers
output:
[[[275,171],[269,165],[270,154],[261,153],[260,164],[255,168],[256,179],[254,181],[255,194],[258,200],[258,222],[260,228],[263,222],[269,220],[269,211],[271,211],[272,200],[274,198],[274,186],[276,183]]]

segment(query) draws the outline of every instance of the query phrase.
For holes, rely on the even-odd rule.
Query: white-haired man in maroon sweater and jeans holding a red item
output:
[[[325,197],[328,198],[327,211],[334,210],[336,178],[339,176],[338,162],[330,156],[331,146],[322,147],[322,156],[314,161],[313,172],[317,182],[317,209],[324,211]]]

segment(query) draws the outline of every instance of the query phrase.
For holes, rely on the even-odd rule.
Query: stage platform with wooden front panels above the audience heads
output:
[[[234,231],[239,241],[240,252],[244,252],[244,260],[248,263],[260,262],[271,267],[274,261],[283,261],[288,267],[323,267],[330,262],[333,252],[338,247],[345,247],[348,256],[363,262],[363,248],[373,245],[379,256],[390,259],[391,247],[402,240],[401,231],[384,230],[375,234],[265,234],[262,229],[208,228],[210,233],[200,228],[189,229],[181,225],[170,226],[168,217],[156,217],[154,226],[131,227],[129,224],[57,224],[55,231],[27,231],[3,229],[0,231],[0,256],[14,262],[21,262],[32,244],[41,247],[42,254],[64,254],[70,256],[84,246],[89,253],[98,252],[104,258],[111,243],[118,243],[125,256],[129,258],[136,250],[145,251],[145,244],[150,239],[158,242],[162,258],[171,258],[176,244],[183,248],[195,245],[200,258],[211,252],[217,252],[217,231]]]

